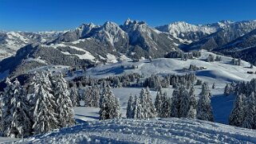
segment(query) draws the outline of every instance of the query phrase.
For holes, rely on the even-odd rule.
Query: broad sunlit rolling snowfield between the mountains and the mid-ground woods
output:
[[[207,62],[209,54],[216,56],[215,53],[203,51],[202,56],[195,60],[180,60],[160,58],[152,60],[140,60],[139,62],[123,61],[117,64],[101,64],[96,68],[90,68],[86,73],[87,76],[106,77],[119,75],[124,73],[138,72],[143,76],[152,76],[152,74],[165,75],[168,73],[185,74],[187,72],[183,68],[189,68],[190,64],[195,64],[198,67],[207,67],[205,70],[196,71],[195,75],[200,79],[211,82],[212,80],[220,81],[222,83],[231,81],[251,80],[255,75],[247,74],[248,71],[256,71],[256,68],[249,68],[250,64],[242,61],[241,66],[230,64],[232,58],[222,56],[222,61]],[[135,65],[136,69],[125,69],[121,66]]]

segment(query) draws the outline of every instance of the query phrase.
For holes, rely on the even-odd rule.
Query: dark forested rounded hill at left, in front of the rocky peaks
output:
[[[65,48],[68,48],[66,49],[66,53]],[[49,47],[38,44],[26,45],[22,49],[19,49],[15,56],[10,56],[0,61],[0,72],[7,71],[10,73],[10,77],[15,77],[30,69],[52,64],[91,67],[93,64],[92,60],[88,60],[88,58],[84,59],[84,55],[88,58],[93,58],[88,52],[69,49],[69,47],[66,46]]]

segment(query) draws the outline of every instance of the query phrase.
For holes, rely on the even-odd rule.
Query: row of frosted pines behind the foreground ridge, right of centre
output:
[[[172,97],[158,91],[155,103],[152,101],[149,88],[143,88],[140,96],[130,95],[126,116],[128,119],[151,118],[190,118],[214,121],[211,107],[211,91],[207,83],[203,83],[199,101],[195,99],[195,88],[179,85],[172,92]]]

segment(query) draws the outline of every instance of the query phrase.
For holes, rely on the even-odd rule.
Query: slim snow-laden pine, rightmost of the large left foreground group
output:
[[[56,99],[56,108],[58,125],[61,127],[73,126],[75,124],[73,103],[69,98],[68,84],[62,74],[55,76],[53,84],[54,97]]]

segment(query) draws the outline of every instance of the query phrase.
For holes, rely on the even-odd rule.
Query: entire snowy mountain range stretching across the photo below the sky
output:
[[[0,72],[20,73],[64,63],[89,67],[124,57],[158,58],[171,52],[198,49],[241,57],[254,64],[254,29],[256,21],[219,21],[208,25],[178,21],[153,28],[145,21],[128,19],[123,25],[112,21],[104,25],[89,23],[63,32],[1,32]]]

